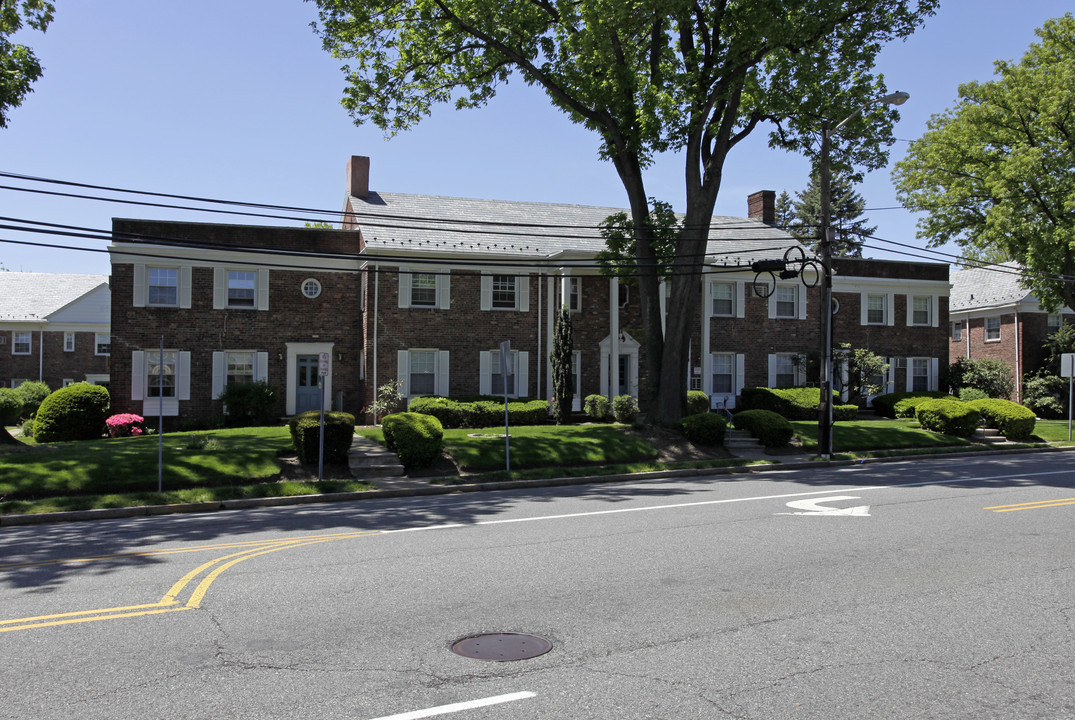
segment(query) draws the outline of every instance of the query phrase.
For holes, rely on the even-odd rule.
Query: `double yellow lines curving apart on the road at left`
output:
[[[201,607],[205,593],[210,586],[220,577],[220,575],[234,567],[244,560],[257,558],[258,556],[280,550],[290,550],[292,548],[317,545],[319,543],[331,543],[340,539],[350,539],[355,537],[370,537],[381,535],[382,531],[363,531],[338,533],[333,535],[315,535],[287,541],[264,541],[260,543],[235,543],[232,545],[210,545],[192,548],[153,550],[145,552],[130,552],[116,556],[97,556],[92,558],[72,558],[67,560],[55,560],[48,562],[24,563],[3,565],[0,568],[27,567],[43,564],[68,564],[75,562],[94,562],[98,560],[111,560],[125,557],[148,557],[157,555],[174,555],[176,552],[198,552],[205,550],[219,550],[225,548],[245,547],[240,552],[226,555],[223,558],[211,560],[195,567],[189,573],[181,577],[169,588],[168,592],[156,603],[144,605],[124,605],[119,607],[102,607],[94,610],[76,610],[74,613],[57,613],[54,615],[39,615],[30,618],[16,618],[13,620],[0,620],[0,633],[9,633],[16,630],[32,630],[35,628],[51,628],[55,625],[68,625],[80,622],[96,622],[98,620],[117,620],[119,618],[135,618],[148,615],[163,615],[166,613],[181,613]],[[199,580],[196,584],[196,580]],[[186,595],[189,590],[189,595]],[[186,601],[183,596],[186,595]]]

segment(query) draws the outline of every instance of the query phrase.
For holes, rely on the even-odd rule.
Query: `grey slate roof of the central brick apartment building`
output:
[[[368,251],[498,256],[520,261],[589,257],[605,249],[600,224],[621,207],[370,192],[349,197]],[[413,218],[426,218],[415,220]],[[799,242],[744,217],[713,218],[707,253],[718,262],[782,258]]]

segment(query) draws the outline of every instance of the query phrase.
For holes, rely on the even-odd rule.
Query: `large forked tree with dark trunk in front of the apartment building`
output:
[[[670,304],[697,308],[728,153],[760,124],[814,154],[821,118],[884,93],[882,44],[909,35],[938,0],[314,0],[326,49],[348,62],[343,104],[387,134],[435,104],[481,107],[513,73],[592,130],[631,210],[653,404],[686,412],[693,313],[661,329],[658,255],[644,171],[679,152],[686,212]],[[872,106],[841,132],[836,170],[884,164],[895,113]],[[864,132],[869,127],[870,132]],[[664,334],[666,333],[666,334]]]

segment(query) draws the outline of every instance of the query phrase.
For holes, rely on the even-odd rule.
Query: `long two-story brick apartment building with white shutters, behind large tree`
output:
[[[547,399],[564,299],[576,407],[591,393],[640,395],[636,287],[593,262],[600,224],[620,208],[377,192],[369,168],[348,162],[343,230],[115,220],[114,406],[153,416],[163,398],[166,415],[217,415],[225,384],[264,378],[289,415],[310,407],[320,352],[329,405],[356,415],[395,379],[408,397],[500,394],[506,383],[511,397]],[[751,217],[714,218],[701,307],[664,307],[694,316],[684,372],[729,404],[749,385],[804,381],[792,359],[819,344],[818,288],[790,278],[768,298],[752,289],[751,262],[799,246],[765,221],[772,204],[772,192],[755,193]],[[836,273],[836,342],[893,358],[893,388],[936,387],[947,265],[841,260]],[[879,320],[859,311],[875,296],[887,303]]]

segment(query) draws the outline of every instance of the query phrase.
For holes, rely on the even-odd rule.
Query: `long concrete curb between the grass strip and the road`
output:
[[[318,503],[342,503],[362,500],[391,498],[420,498],[426,495],[448,495],[463,492],[491,492],[494,490],[525,490],[529,488],[555,488],[573,485],[602,485],[631,480],[660,480],[697,477],[699,475],[752,475],[808,467],[845,467],[870,465],[884,462],[905,462],[917,458],[948,459],[966,455],[979,458],[997,455],[1021,455],[1028,452],[1075,451],[1075,447],[1038,447],[980,450],[977,452],[944,452],[936,455],[906,455],[889,458],[862,458],[860,460],[799,460],[776,464],[737,465],[734,467],[691,467],[686,470],[659,470],[649,473],[627,473],[619,475],[591,475],[584,477],[553,477],[539,480],[505,480],[503,483],[469,483],[460,485],[431,485],[424,488],[387,488],[363,492],[332,492],[320,495],[291,495],[287,498],[246,498],[243,500],[221,500],[204,503],[177,503],[174,505],[139,505],[135,507],[109,507],[96,510],[70,510],[64,513],[38,513],[34,515],[0,515],[0,528],[17,525],[49,524],[54,522],[83,522],[87,520],[113,520],[140,518],[158,515],[192,513],[216,513],[220,510],[254,509],[258,507],[282,507],[287,505],[313,505]]]

